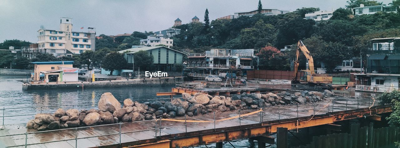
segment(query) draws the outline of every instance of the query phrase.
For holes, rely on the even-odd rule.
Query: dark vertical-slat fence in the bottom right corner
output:
[[[395,148],[394,142],[400,140],[399,127],[360,128],[360,124],[353,124],[351,132],[329,134],[313,137],[312,142],[306,146],[292,148]]]

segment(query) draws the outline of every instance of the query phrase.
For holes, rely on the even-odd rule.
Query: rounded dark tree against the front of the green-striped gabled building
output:
[[[153,55],[150,55],[147,51],[140,50],[134,53],[135,67],[140,67],[142,70],[150,70],[153,62]]]

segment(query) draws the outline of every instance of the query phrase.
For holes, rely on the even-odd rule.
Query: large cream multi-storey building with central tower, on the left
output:
[[[88,29],[88,32],[72,31],[72,18],[60,18],[59,30],[38,30],[38,48],[54,56],[69,56],[95,50],[96,32],[94,28]]]

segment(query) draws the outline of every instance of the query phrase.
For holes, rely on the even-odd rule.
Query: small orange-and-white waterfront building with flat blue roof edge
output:
[[[34,64],[34,73],[31,77],[41,81],[40,75],[44,74],[44,82],[78,82],[78,69],[73,68],[74,61],[58,62],[31,62]]]

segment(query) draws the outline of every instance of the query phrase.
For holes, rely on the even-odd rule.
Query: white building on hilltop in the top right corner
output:
[[[376,12],[397,12],[397,8],[399,6],[384,6],[384,5],[378,5],[378,6],[365,6],[364,4],[360,4],[360,7],[354,8],[355,15],[362,15],[362,14],[375,14]]]

